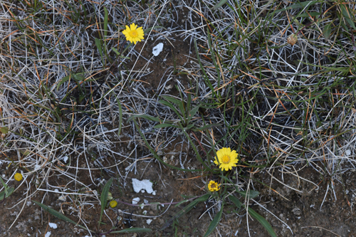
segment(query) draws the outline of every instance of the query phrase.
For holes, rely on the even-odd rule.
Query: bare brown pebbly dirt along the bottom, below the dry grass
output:
[[[298,169],[296,170],[298,171]],[[11,167],[6,169],[2,164],[1,171],[1,176],[6,177],[11,174]],[[355,172],[342,175],[340,180],[342,179],[343,185],[335,185],[335,189],[331,189],[330,186],[328,189],[327,186],[332,181],[320,177],[311,167],[300,169],[295,173],[298,173],[298,176],[284,173],[282,178],[281,172],[276,172],[274,178],[279,181],[283,179],[283,183],[290,188],[276,180],[271,182],[271,176],[266,172],[261,172],[252,179],[256,178],[264,184],[271,184],[272,189],[263,185],[255,186],[256,190],[261,191],[260,196],[256,198],[261,206],[250,200],[249,207],[265,217],[278,236],[356,236],[355,213],[352,210],[356,196]],[[194,174],[172,172],[153,160],[140,162],[137,165],[137,174],[130,172],[125,181],[120,178],[115,180],[110,189],[112,196],[127,203],[132,203],[132,199],[137,197],[140,197],[142,201],[146,199],[150,203],[169,203],[182,201],[181,194],[194,196],[206,192],[201,179],[194,178]],[[80,177],[78,181],[90,185],[88,176],[88,172],[82,170],[78,174]],[[94,171],[91,176],[96,180],[109,179],[108,173],[105,171]],[[153,181],[156,195],[136,194],[131,184],[133,177]],[[27,179],[31,179],[31,177],[27,177]],[[334,180],[334,182],[337,181]],[[56,175],[53,175],[48,183],[67,186],[69,190],[74,188],[73,182],[72,185],[68,185],[70,179],[63,179]],[[10,184],[15,188],[18,185],[19,183],[15,181]],[[102,187],[93,186],[92,190],[100,193]],[[97,230],[100,206],[96,204],[93,206],[84,205],[78,212],[78,207],[73,206],[73,202],[69,202],[68,199],[66,201],[58,199],[58,194],[45,194],[40,191],[27,199],[24,194],[26,195],[26,185],[22,185],[11,195],[11,198],[5,199],[1,203],[0,236],[45,236],[48,231],[51,231],[51,236],[89,236],[78,226],[55,218],[46,211],[41,211],[41,208],[31,202],[33,200],[43,201],[43,204],[57,211],[63,211],[63,214],[75,222],[84,221],[88,228],[100,233],[109,231],[115,225],[117,226],[116,230],[131,226],[152,228],[150,233],[108,234],[107,236],[203,236],[211,218],[214,218],[214,212],[211,211],[198,219],[205,210],[204,204],[199,204],[196,209],[192,209],[188,214],[179,218],[174,226],[159,231],[159,228],[162,228],[169,218],[172,218],[185,206],[184,204],[179,207],[174,207],[174,205],[145,206],[141,209],[138,206],[119,203],[115,209],[106,209],[103,224],[100,225],[100,230]],[[21,201],[23,199],[25,200]],[[225,209],[221,223],[211,236],[248,236],[248,231],[251,236],[268,236],[258,221],[248,218],[247,223],[246,211],[240,211],[236,216],[232,212],[233,210],[232,206]],[[143,216],[144,211],[147,211],[147,217],[136,216]],[[20,216],[18,216],[19,214]],[[116,221],[118,216],[123,218],[120,223]],[[15,221],[16,218],[18,218],[17,221]],[[150,224],[147,224],[148,219],[152,220]],[[56,223],[58,228],[53,229],[48,226],[48,223]]]

